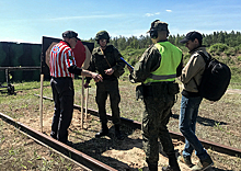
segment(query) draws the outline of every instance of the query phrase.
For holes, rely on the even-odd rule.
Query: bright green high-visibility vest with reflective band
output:
[[[161,54],[161,64],[144,83],[174,81],[176,78],[176,68],[182,60],[182,50],[170,42],[159,42],[154,46]]]

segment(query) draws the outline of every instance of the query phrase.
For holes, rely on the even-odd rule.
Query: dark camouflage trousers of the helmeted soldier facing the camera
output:
[[[107,95],[110,95],[113,124],[120,124],[118,107],[118,104],[120,102],[120,95],[118,90],[118,80],[104,80],[103,82],[97,82],[96,87],[97,88],[95,101],[97,103],[101,123],[107,123],[105,105]]]

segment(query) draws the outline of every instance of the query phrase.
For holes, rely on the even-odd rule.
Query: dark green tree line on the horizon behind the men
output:
[[[168,39],[175,46],[184,46],[183,44],[179,43],[184,36],[185,35],[180,35],[180,34],[170,35]],[[241,45],[240,32],[231,31],[230,33],[227,33],[226,31],[225,32],[220,31],[220,32],[214,32],[213,34],[203,34],[203,37],[204,37],[203,44],[207,47],[217,43],[226,44],[230,47],[236,47]],[[91,38],[88,42],[95,43],[96,46],[96,42],[94,41],[94,38]],[[118,36],[118,37],[111,37],[110,44],[114,45],[119,50],[125,50],[128,48],[134,48],[134,49],[147,48],[149,47],[149,45],[152,44],[152,42],[149,35],[146,36],[140,35],[139,37]]]

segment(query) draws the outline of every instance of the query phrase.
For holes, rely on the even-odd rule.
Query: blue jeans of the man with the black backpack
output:
[[[208,157],[207,151],[195,135],[196,118],[202,100],[200,96],[186,98],[182,95],[179,128],[185,137],[183,156],[192,156],[195,149],[196,156],[204,160]]]

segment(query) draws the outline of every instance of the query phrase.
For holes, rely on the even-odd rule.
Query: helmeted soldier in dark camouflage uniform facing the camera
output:
[[[115,125],[115,136],[117,139],[123,139],[119,132],[119,107],[120,95],[118,90],[118,77],[124,72],[125,62],[120,59],[122,55],[110,43],[110,35],[106,31],[101,31],[96,34],[95,41],[100,47],[93,49],[90,67],[88,70],[97,71],[103,77],[103,82],[96,83],[96,96],[100,121],[102,129],[95,137],[102,137],[108,134],[105,103],[110,95],[113,123]],[[91,78],[87,78],[88,87]]]

